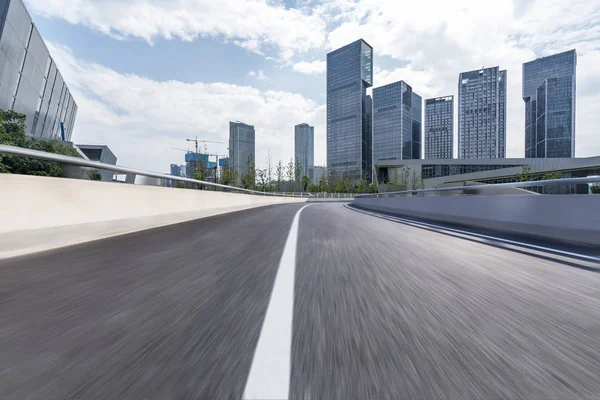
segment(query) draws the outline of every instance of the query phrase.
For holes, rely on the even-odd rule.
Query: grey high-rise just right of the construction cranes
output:
[[[243,122],[229,123],[229,161],[231,168],[237,173],[238,183],[247,173],[248,157],[256,162],[254,126]]]

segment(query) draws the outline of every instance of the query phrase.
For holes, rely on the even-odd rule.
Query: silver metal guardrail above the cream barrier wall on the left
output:
[[[275,193],[275,192],[261,192],[258,190],[242,189],[242,188],[238,188],[235,186],[223,185],[223,184],[215,183],[215,182],[201,181],[198,179],[184,178],[181,176],[161,174],[158,172],[144,171],[141,169],[122,167],[119,165],[105,164],[105,163],[101,163],[99,161],[90,161],[90,160],[86,160],[83,158],[65,156],[62,154],[54,154],[54,153],[47,153],[44,151],[24,149],[22,147],[0,145],[0,153],[10,154],[10,155],[14,155],[14,156],[30,157],[30,158],[35,158],[38,160],[54,161],[54,162],[68,164],[68,165],[74,165],[74,166],[78,166],[78,167],[104,169],[104,170],[118,172],[118,173],[122,173],[122,174],[141,175],[141,176],[148,176],[150,178],[168,179],[168,180],[178,181],[178,182],[194,183],[194,184],[199,184],[199,185],[206,185],[206,186],[226,189],[226,190],[232,191],[232,192],[241,192],[241,193],[259,195],[259,196],[304,197],[300,194],[294,194],[294,193],[283,194],[283,193]]]

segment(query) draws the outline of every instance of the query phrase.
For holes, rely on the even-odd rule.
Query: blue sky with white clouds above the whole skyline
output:
[[[598,0],[25,4],[79,107],[72,140],[108,145],[120,165],[168,172],[195,137],[226,155],[236,120],[255,126],[257,166],[289,161],[300,123],[325,165],[326,54],[360,38],[374,87],[404,80],[424,99],[456,98],[460,72],[506,69],[507,157],[524,156],[522,64],[575,48],[576,156],[600,155]],[[457,125],[455,110],[455,154]]]

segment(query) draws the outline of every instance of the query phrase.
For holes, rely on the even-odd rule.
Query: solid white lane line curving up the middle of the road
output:
[[[302,210],[309,206],[311,204],[298,210],[292,221],[246,380],[244,399],[287,399],[289,396],[298,221]]]

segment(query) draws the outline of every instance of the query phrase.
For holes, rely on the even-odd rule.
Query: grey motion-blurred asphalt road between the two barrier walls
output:
[[[0,261],[0,398],[240,399],[259,342],[289,342],[262,372],[291,399],[600,396],[599,270],[342,204],[301,211],[285,266],[302,207]]]

